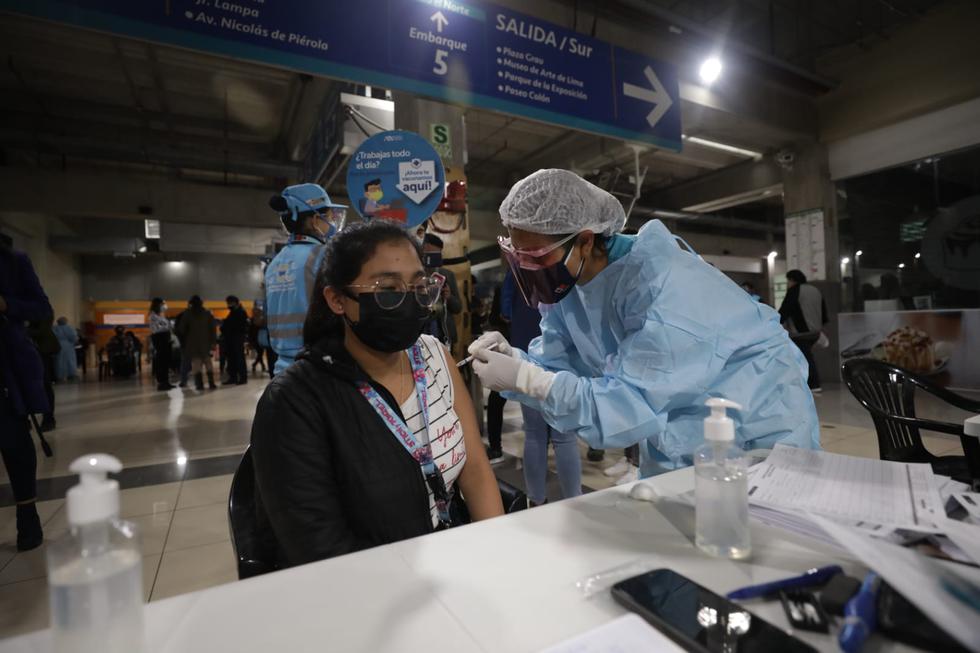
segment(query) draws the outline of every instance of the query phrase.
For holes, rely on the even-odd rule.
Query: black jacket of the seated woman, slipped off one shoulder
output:
[[[279,567],[433,530],[419,464],[357,381],[371,379],[342,343],[326,340],[305,350],[259,400],[251,437],[256,517],[266,542],[274,536]]]

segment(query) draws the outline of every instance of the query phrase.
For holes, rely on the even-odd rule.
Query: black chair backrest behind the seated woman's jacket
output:
[[[238,559],[238,578],[242,580],[276,569],[275,547],[268,537],[261,536],[256,515],[252,450],[246,449],[231,479],[228,494],[231,546]]]

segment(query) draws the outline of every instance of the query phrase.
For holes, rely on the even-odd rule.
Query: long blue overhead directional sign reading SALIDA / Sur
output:
[[[0,0],[0,9],[681,147],[673,66],[459,0]]]

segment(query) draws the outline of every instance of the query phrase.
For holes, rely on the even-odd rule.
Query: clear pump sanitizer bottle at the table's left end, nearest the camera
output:
[[[105,454],[82,456],[69,469],[81,482],[68,490],[70,531],[48,547],[51,631],[56,653],[140,653],[143,572],[136,526],[119,519],[122,464]]]

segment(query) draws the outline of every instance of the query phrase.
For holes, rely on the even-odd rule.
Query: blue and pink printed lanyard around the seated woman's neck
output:
[[[449,494],[446,491],[445,480],[439,469],[436,467],[435,460],[432,458],[432,445],[429,442],[429,396],[428,383],[425,378],[425,360],[422,358],[422,349],[418,343],[409,350],[409,360],[412,364],[412,377],[415,379],[415,395],[418,397],[419,408],[422,413],[422,421],[425,428],[422,430],[420,438],[416,438],[412,429],[391,410],[388,404],[381,398],[377,390],[370,384],[360,382],[357,389],[360,390],[364,398],[367,399],[374,412],[378,414],[381,421],[385,423],[405,450],[422,467],[426,482],[432,490],[435,498],[436,510],[439,512],[439,521],[448,526],[451,522],[449,516]],[[437,487],[432,487],[435,484]],[[442,491],[437,491],[438,488]],[[441,496],[440,496],[441,495]]]

